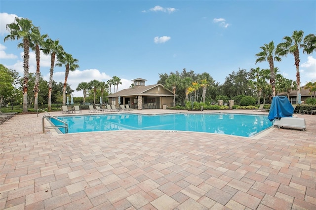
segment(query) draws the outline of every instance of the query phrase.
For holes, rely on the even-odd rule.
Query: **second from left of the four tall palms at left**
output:
[[[31,42],[30,46],[32,50],[35,50],[36,57],[36,73],[35,73],[35,84],[34,84],[34,110],[38,109],[38,95],[39,95],[39,85],[40,85],[40,46],[44,43],[44,38],[48,35],[40,35],[40,30],[38,27],[32,28]]]

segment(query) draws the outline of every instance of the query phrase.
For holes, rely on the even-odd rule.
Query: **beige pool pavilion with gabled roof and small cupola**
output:
[[[145,85],[146,79],[137,78],[132,80],[133,87],[110,94],[106,98],[109,104],[129,105],[131,108],[142,109],[165,109],[173,105],[173,92],[161,84]],[[177,95],[175,95],[177,97]]]

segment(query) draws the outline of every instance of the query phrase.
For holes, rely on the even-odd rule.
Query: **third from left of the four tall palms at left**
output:
[[[49,83],[48,83],[48,110],[51,111],[51,93],[53,90],[53,74],[55,66],[55,58],[57,59],[60,54],[64,53],[64,49],[59,45],[59,40],[53,41],[47,38],[43,43],[43,48],[41,49],[45,55],[50,54],[50,70],[49,70]]]

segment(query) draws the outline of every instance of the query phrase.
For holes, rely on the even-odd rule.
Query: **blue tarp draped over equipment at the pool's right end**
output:
[[[282,117],[290,117],[294,113],[294,108],[286,96],[273,97],[269,110],[268,119],[273,121]]]

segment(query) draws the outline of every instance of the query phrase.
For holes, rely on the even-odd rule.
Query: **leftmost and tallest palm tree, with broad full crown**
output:
[[[31,20],[25,18],[14,19],[13,23],[6,25],[6,30],[9,31],[9,35],[4,37],[6,40],[23,39],[23,112],[28,112],[28,81],[29,81],[29,59],[30,59],[30,39],[32,35],[33,24]],[[19,45],[18,45],[19,46]]]

